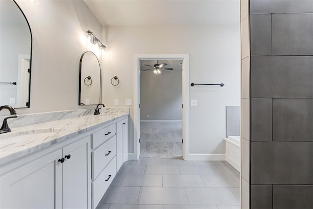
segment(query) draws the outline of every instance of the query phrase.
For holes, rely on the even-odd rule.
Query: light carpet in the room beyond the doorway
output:
[[[180,158],[182,123],[140,123],[140,158]]]

